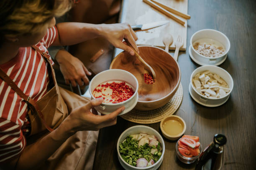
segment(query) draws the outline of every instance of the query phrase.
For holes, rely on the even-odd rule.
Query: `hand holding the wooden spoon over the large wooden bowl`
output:
[[[121,48],[129,52],[131,55],[134,55],[133,49],[126,45],[125,42],[123,42],[123,39],[126,38],[132,47],[137,52],[139,52],[135,42],[138,40],[138,37],[128,23],[102,24],[101,32],[102,36],[105,37],[115,47]]]

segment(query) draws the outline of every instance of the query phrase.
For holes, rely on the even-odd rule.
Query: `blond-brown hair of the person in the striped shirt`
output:
[[[0,0],[0,46],[5,36],[41,32],[44,24],[72,7],[72,0]]]

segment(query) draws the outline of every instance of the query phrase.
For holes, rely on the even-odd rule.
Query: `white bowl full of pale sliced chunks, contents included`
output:
[[[228,100],[233,85],[233,79],[226,70],[214,65],[205,65],[192,72],[189,94],[201,105],[216,107]]]

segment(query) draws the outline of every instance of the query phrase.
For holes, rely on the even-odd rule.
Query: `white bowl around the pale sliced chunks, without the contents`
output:
[[[200,94],[199,92],[197,92],[197,90],[195,89],[195,87],[192,84],[192,78],[195,77],[195,75],[197,73],[203,72],[206,70],[209,70],[211,73],[218,74],[221,78],[223,78],[223,80],[225,80],[225,82],[227,82],[228,87],[230,88],[230,91],[228,93],[226,93],[225,96],[219,97],[216,99],[211,99],[211,98],[207,98],[207,97],[203,96],[202,94]],[[224,104],[228,100],[230,93],[233,90],[233,86],[234,86],[233,79],[232,79],[231,75],[226,70],[224,70],[223,68],[220,68],[218,66],[214,66],[214,65],[204,65],[204,66],[198,67],[197,69],[195,69],[192,72],[192,74],[190,76],[189,94],[196,102],[198,102],[201,105],[204,105],[207,107],[217,107],[217,106]]]

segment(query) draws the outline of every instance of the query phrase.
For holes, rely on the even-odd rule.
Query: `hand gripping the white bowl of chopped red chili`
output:
[[[93,114],[90,111],[91,108],[93,109],[93,107],[100,105],[102,101],[102,98],[97,98],[91,100],[86,105],[82,105],[72,110],[70,115],[64,120],[67,121],[65,123],[69,124],[66,126],[71,127],[73,132],[77,132],[81,130],[99,130],[100,128],[115,125],[118,114],[122,112],[125,107],[120,107],[108,115]]]

